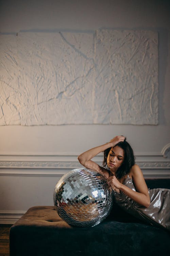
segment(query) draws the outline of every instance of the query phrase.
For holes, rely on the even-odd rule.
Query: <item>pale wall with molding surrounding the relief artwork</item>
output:
[[[1,1],[2,33],[113,28],[153,30],[159,35],[158,125],[0,126],[1,223],[13,223],[33,205],[52,205],[54,184],[63,173],[79,166],[77,155],[117,134],[127,137],[146,177],[170,175],[170,160],[163,157],[170,143],[168,2]],[[101,160],[99,156],[97,161]]]

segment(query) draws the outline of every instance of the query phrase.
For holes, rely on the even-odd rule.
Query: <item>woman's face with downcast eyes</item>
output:
[[[112,147],[107,156],[107,166],[115,174],[124,161],[124,150],[119,146]]]

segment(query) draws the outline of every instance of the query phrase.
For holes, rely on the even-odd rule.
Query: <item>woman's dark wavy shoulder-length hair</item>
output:
[[[128,142],[126,142],[126,138],[123,142],[119,142],[118,144],[116,144],[115,147],[116,146],[119,146],[124,151],[123,163],[115,173],[117,179],[120,179],[122,176],[130,172],[131,167],[135,164],[135,156],[131,145]],[[106,150],[104,150],[103,167],[107,167],[107,169],[107,156],[110,150],[111,148],[107,148]]]

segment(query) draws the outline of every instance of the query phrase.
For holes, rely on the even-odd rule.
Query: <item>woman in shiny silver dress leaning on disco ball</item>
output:
[[[101,167],[91,159],[103,151]],[[143,174],[135,164],[133,150],[124,136],[116,136],[109,143],[87,150],[80,154],[78,160],[107,179],[116,202],[125,211],[170,230],[170,190],[148,190]]]

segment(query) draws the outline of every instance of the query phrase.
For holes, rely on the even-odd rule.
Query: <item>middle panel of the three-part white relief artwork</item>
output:
[[[65,34],[19,34],[21,124],[92,123],[92,35]]]

